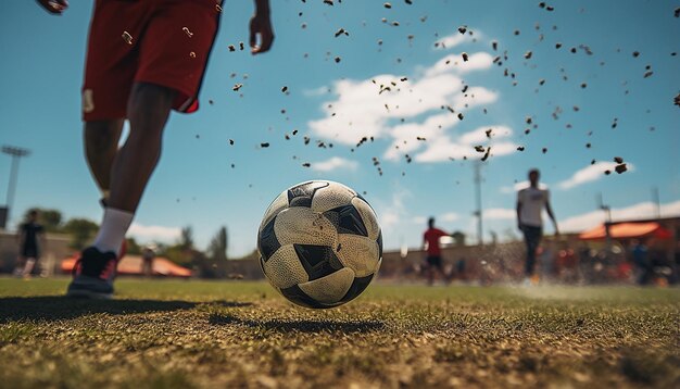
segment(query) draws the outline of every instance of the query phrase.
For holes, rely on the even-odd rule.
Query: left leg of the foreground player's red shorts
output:
[[[83,120],[126,117],[148,17],[143,1],[98,0],[87,46]]]

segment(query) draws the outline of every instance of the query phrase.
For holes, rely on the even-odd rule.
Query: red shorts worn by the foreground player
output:
[[[127,117],[135,83],[177,91],[173,108],[198,110],[219,24],[221,0],[97,0],[83,85],[83,120]]]

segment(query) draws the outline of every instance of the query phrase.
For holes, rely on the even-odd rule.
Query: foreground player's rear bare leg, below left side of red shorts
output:
[[[123,118],[86,122],[84,129],[85,154],[90,172],[102,192],[111,188],[111,166],[118,151]]]

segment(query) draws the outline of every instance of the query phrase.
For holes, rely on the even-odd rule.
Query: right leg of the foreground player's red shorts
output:
[[[217,34],[215,1],[161,0],[144,30],[135,81],[177,91],[173,108],[191,112]]]

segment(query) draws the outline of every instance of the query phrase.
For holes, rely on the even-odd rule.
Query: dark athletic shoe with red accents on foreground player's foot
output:
[[[74,278],[67,297],[111,299],[118,259],[113,251],[101,252],[95,247],[85,249],[73,267]]]

